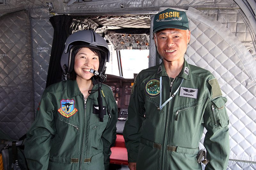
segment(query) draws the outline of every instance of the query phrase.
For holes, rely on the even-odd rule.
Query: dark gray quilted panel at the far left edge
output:
[[[28,11],[0,17],[0,129],[18,140],[34,120]]]

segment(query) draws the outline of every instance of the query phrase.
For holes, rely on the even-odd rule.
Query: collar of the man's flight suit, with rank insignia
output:
[[[162,61],[162,63],[157,68],[155,78],[160,78],[161,76],[168,76],[164,68],[164,61]],[[180,71],[180,74],[177,77],[190,80],[190,66],[185,59],[184,59],[182,70]]]

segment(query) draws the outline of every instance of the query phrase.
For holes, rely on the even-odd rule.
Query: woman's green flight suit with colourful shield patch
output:
[[[97,114],[97,91],[87,98],[86,109],[76,80],[53,84],[44,91],[25,142],[30,170],[108,170],[118,114],[110,87],[102,84],[101,89],[107,102],[102,99],[104,110],[108,108],[111,115],[106,111],[103,122]]]

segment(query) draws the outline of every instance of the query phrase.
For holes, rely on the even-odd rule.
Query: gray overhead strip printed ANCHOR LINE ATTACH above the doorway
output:
[[[126,12],[130,14],[138,11],[158,11],[160,7],[175,7],[181,9],[193,8],[237,8],[239,7],[233,0],[92,0],[92,1],[75,1],[70,3],[70,0],[55,0],[53,6],[62,6],[62,8],[54,8],[53,12],[61,13],[100,13],[114,14]],[[74,1],[73,1],[74,2]]]

